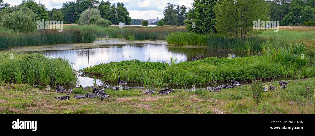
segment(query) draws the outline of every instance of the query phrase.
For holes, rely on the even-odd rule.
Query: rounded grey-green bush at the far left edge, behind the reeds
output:
[[[23,11],[15,11],[1,18],[0,25],[14,32],[31,32],[36,29],[36,24]]]

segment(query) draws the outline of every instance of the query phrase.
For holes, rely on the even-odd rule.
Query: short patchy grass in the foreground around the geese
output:
[[[287,89],[262,92],[261,102],[253,101],[251,87],[245,85],[221,92],[205,89],[175,90],[167,96],[144,94],[132,89],[107,92],[112,98],[59,101],[54,97],[66,94],[47,92],[24,84],[0,84],[1,114],[314,114],[314,78],[293,80]],[[277,86],[277,82],[264,83]],[[310,86],[307,99],[306,86]],[[45,89],[45,88],[44,88]],[[54,90],[54,89],[52,89]],[[91,88],[83,94],[92,93]],[[298,101],[300,100],[300,102]],[[293,105],[290,105],[293,102]],[[304,103],[304,106],[301,105]]]

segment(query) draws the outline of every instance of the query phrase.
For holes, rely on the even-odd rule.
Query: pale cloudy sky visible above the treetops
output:
[[[49,10],[53,8],[62,8],[62,3],[76,0],[36,0],[43,3]],[[101,0],[100,0],[101,1]],[[107,0],[104,0],[105,2]],[[124,3],[130,13],[132,19],[155,19],[163,18],[164,7],[167,3],[174,5],[185,5],[191,7],[193,0],[109,0],[111,3]],[[19,5],[22,0],[4,0],[4,3],[9,3],[11,6]]]

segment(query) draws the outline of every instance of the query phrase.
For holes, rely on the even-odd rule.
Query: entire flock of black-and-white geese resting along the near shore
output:
[[[290,82],[290,81],[289,81]],[[289,84],[289,82],[282,82],[282,81],[279,81],[279,85],[280,85],[280,88],[283,88],[283,89],[286,89],[286,85]],[[129,90],[131,89],[132,87],[126,87],[125,85],[129,84],[128,82],[126,81],[123,81],[123,80],[120,80],[120,76],[118,76],[118,81],[117,81],[118,85],[123,85],[123,90]],[[220,92],[222,88],[235,88],[236,86],[242,86],[240,85],[240,83],[238,81],[235,81],[235,80],[231,80],[231,85],[229,84],[223,84],[221,86],[216,86],[216,87],[207,87],[206,89],[209,90],[210,92]],[[106,98],[106,97],[110,97],[106,92],[104,92],[105,89],[109,89],[109,88],[112,88],[114,90],[119,90],[119,87],[118,86],[109,86],[109,85],[101,85],[101,86],[98,86],[99,88],[96,88],[96,87],[93,87],[93,91],[92,93],[87,93],[86,95],[78,95],[78,94],[75,94],[73,96],[73,98],[76,98],[76,99],[80,99],[80,98],[95,98],[95,97],[99,97],[101,99],[101,101],[103,101],[103,98]],[[77,86],[76,88],[83,88],[82,85],[80,86]],[[73,89],[73,88],[72,88]],[[56,87],[56,90],[55,92],[59,92],[59,93],[72,93],[72,89],[69,89],[69,90],[66,90],[63,88],[63,86],[57,86]],[[263,89],[264,92],[268,91],[268,90],[273,90],[273,89],[276,89],[275,86],[271,86],[269,85],[269,88],[268,87],[265,87]],[[150,90],[150,89],[147,89],[144,93],[145,94],[153,94],[157,92],[157,90]],[[168,87],[166,87],[166,89],[164,90],[161,90],[158,92],[159,95],[169,95],[170,92],[174,92],[174,89],[169,89]],[[58,100],[69,100],[70,99],[70,96],[69,94],[67,94],[67,96],[63,96],[63,97],[55,97],[56,99]]]

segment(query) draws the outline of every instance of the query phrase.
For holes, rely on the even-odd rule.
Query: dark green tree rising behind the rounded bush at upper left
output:
[[[49,20],[47,8],[42,3],[36,3],[35,0],[23,0],[20,6],[33,10],[38,15],[39,20]]]

